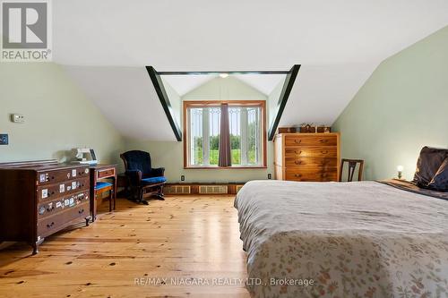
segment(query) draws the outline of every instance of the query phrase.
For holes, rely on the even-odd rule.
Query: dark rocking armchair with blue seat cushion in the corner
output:
[[[120,155],[125,163],[125,174],[131,187],[133,200],[148,204],[144,195],[153,195],[163,199],[163,185],[167,182],[165,168],[152,168],[151,155],[148,152],[132,150]]]

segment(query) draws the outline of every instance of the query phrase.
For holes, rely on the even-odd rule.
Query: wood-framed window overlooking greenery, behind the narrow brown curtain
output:
[[[228,105],[228,118],[223,118],[228,122],[225,136],[220,135],[222,104]],[[229,143],[231,162],[228,166],[266,166],[264,125],[264,101],[185,101],[185,167],[222,167],[218,166],[222,140]]]

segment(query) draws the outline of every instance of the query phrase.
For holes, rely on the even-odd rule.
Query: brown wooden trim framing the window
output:
[[[261,166],[189,166],[187,145],[190,140],[187,128],[187,108],[194,106],[260,106],[262,108],[262,133],[263,133],[263,156]],[[182,110],[184,130],[184,168],[185,169],[265,169],[267,168],[267,132],[266,132],[266,101],[265,100],[185,100]]]

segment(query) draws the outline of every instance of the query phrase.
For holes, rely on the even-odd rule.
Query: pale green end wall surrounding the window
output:
[[[267,100],[260,91],[232,77],[216,78],[188,92],[183,100]],[[184,143],[177,141],[125,140],[126,149],[141,149],[151,153],[154,166],[164,166],[169,182],[246,182],[267,179],[273,173],[273,146],[267,144],[267,169],[184,169]]]

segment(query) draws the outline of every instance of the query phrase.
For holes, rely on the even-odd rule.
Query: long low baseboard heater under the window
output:
[[[167,183],[165,194],[237,194],[245,183]]]

